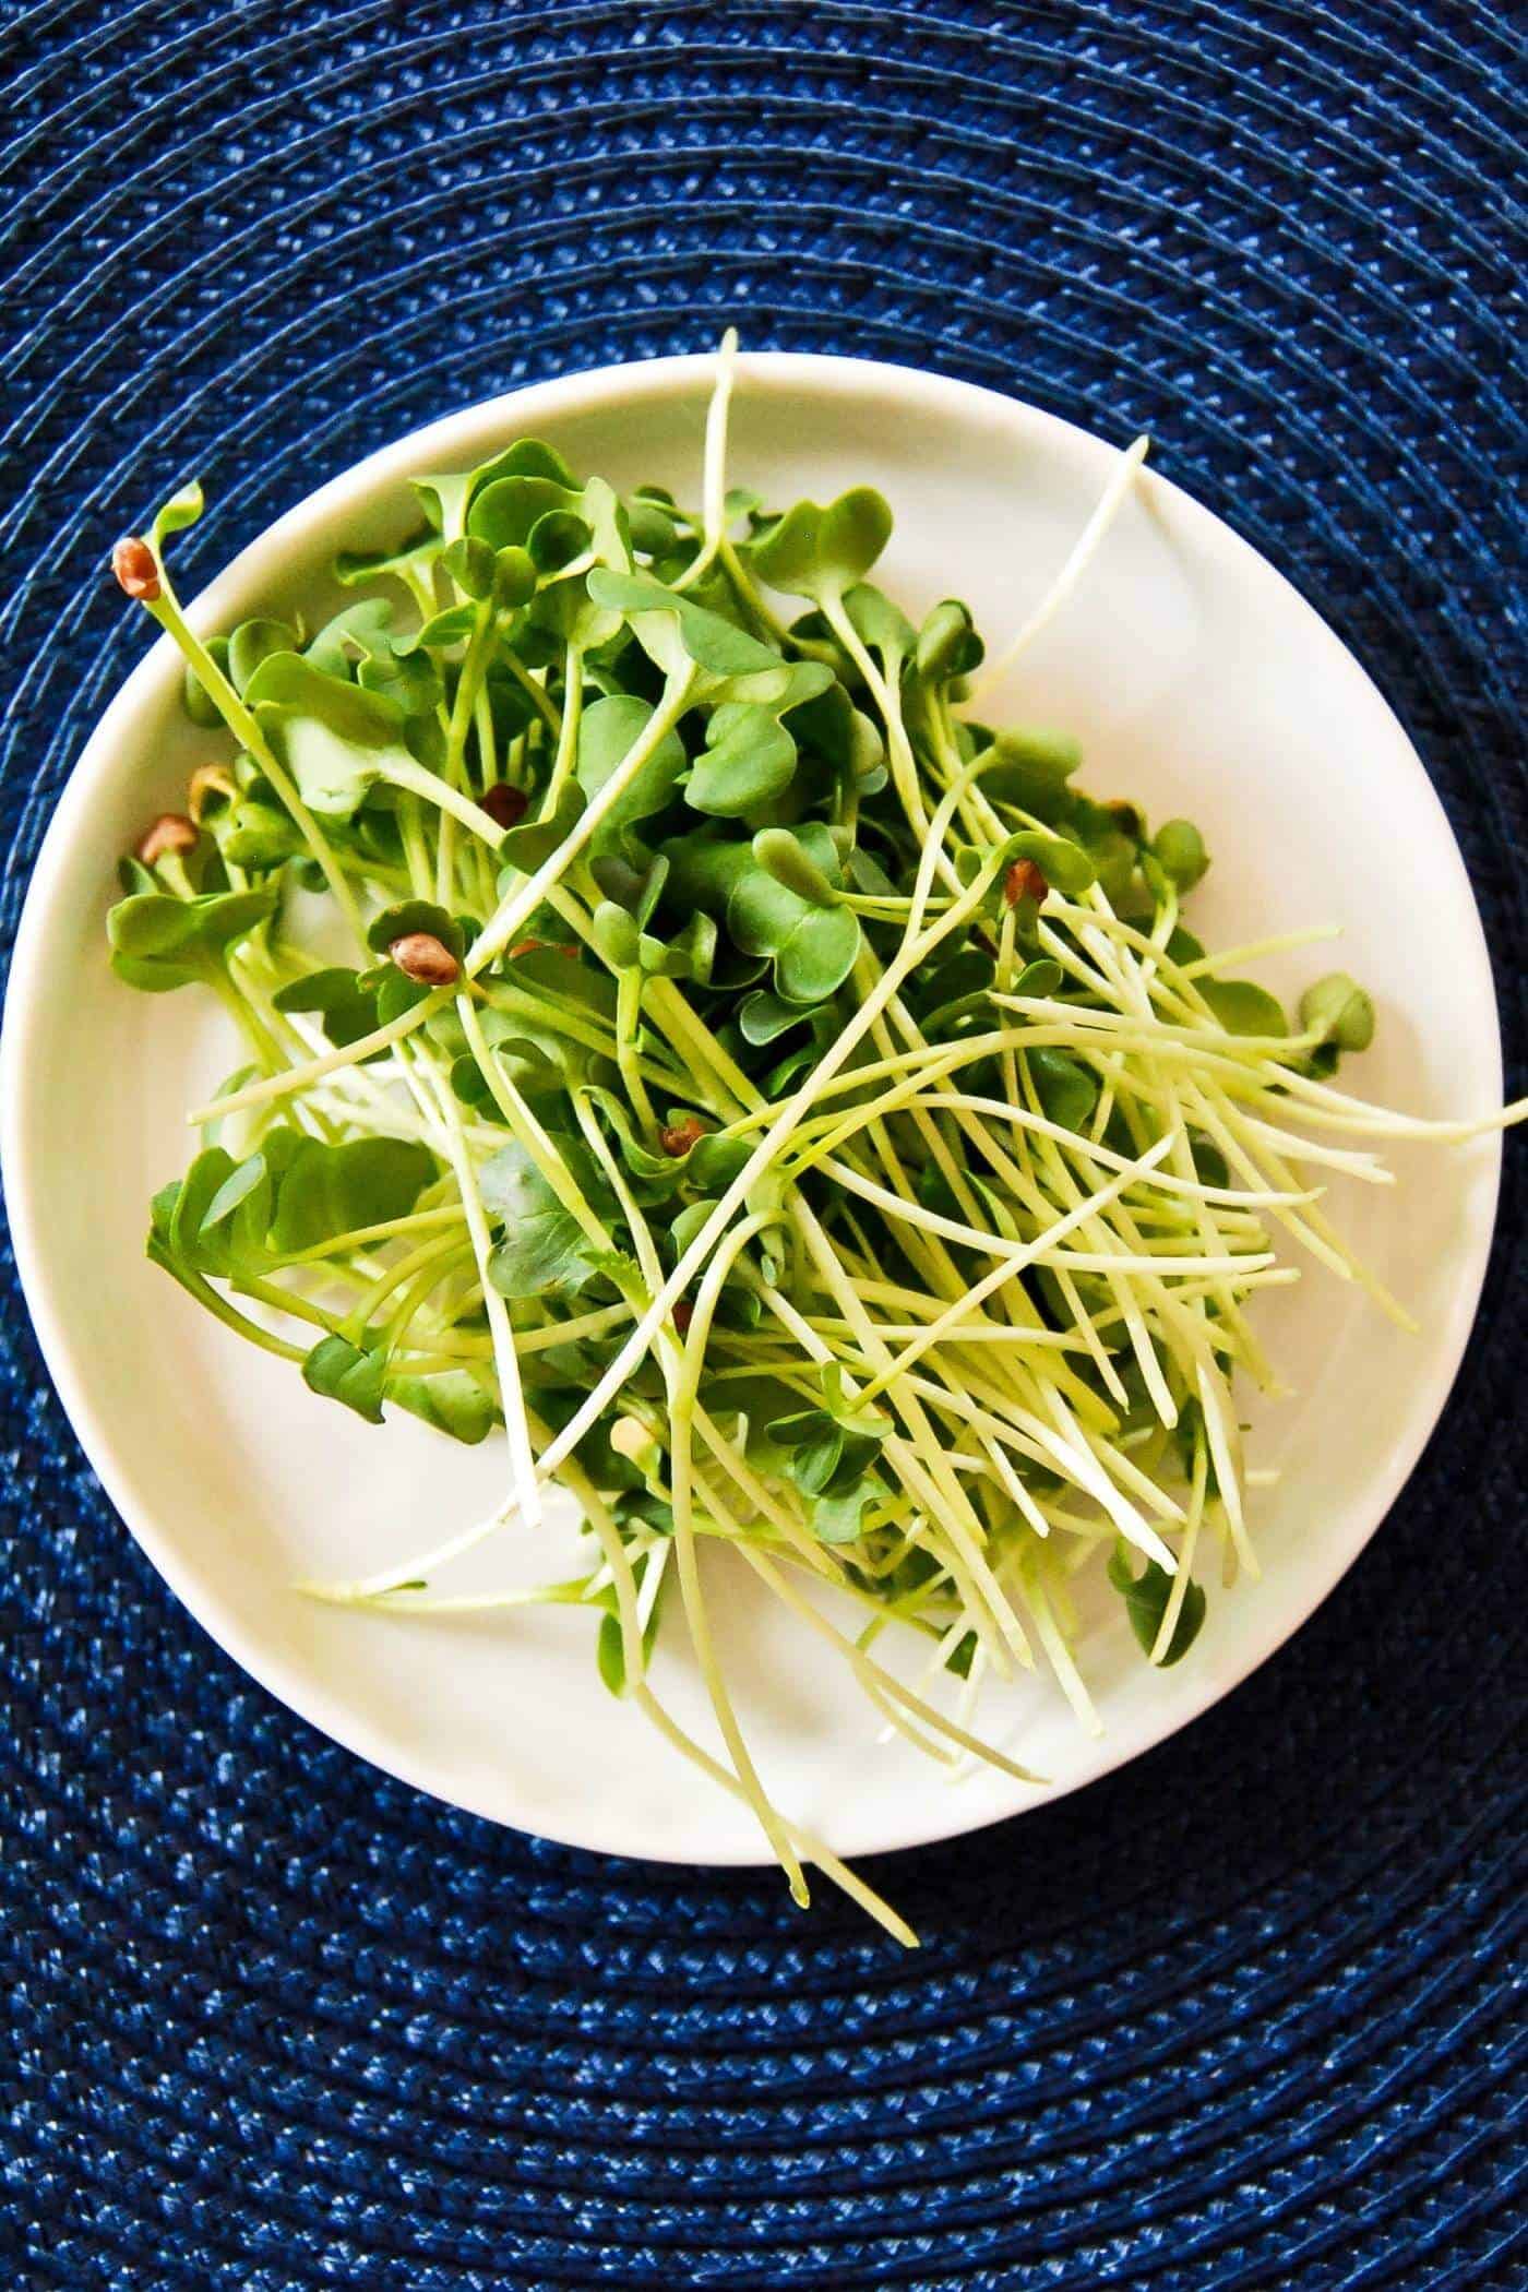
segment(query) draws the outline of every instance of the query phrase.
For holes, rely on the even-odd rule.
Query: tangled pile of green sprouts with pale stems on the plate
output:
[[[312,633],[279,601],[192,633],[165,541],[197,488],[119,543],[220,747],[124,862],[112,963],[211,990],[243,1036],[153,1201],[153,1261],[373,1423],[506,1432],[490,1517],[305,1591],[589,1607],[605,1682],[751,1806],[797,1900],[816,1866],[912,1941],[774,1806],[703,1545],[889,1733],[1038,1781],[976,1701],[1045,1669],[1097,1728],[1079,1572],[1152,1664],[1194,1646],[1205,1556],[1255,1572],[1235,1391],[1278,1389],[1258,1293],[1315,1261],[1404,1320],[1329,1178],[1391,1183],[1377,1139],[1523,1109],[1427,1125],[1338,1089],[1368,995],[1329,974],[1290,1025],[1228,976],[1322,933],[1205,953],[1180,912],[1198,830],[1148,832],[1079,793],[1070,740],[978,717],[967,607],[914,628],[868,580],[877,493],[774,513],[726,490],[733,378],[728,337],[699,513],[515,440],[422,479],[422,529],[341,559],[353,601]],[[1141,456],[1006,658],[1086,578]],[[314,951],[323,910],[344,963]],[[538,1531],[550,1483],[586,1565],[454,1588],[472,1549]],[[715,1747],[651,1680],[680,1625]],[[916,1685],[882,1662],[893,1627]]]

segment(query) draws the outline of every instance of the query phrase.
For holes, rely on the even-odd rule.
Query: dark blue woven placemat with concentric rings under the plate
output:
[[[195,587],[433,413],[735,316],[1150,426],[1416,736],[1523,1086],[1505,9],[0,28],[7,944],[142,642],[105,545],[167,481],[215,500]],[[1528,2285],[1526,1169],[1361,1565],[1189,1735],[882,1870],[912,1960],[774,1879],[454,1815],[275,1708],[110,1515],[7,1277],[0,2283]]]

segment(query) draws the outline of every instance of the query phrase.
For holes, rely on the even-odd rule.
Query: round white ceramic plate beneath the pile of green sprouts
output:
[[[708,360],[657,360],[451,415],[273,525],[195,619],[211,633],[293,598],[323,605],[337,545],[383,541],[410,520],[410,474],[472,465],[515,435],[548,438],[616,486],[657,479],[694,497],[708,385]],[[735,479],[770,500],[877,484],[898,516],[877,578],[912,612],[967,598],[990,642],[1045,591],[1111,468],[1100,440],[964,383],[827,358],[740,367]],[[110,536],[101,541],[105,555]],[[1214,869],[1191,915],[1210,944],[1347,924],[1342,949],[1290,958],[1271,979],[1297,986],[1340,960],[1375,990],[1379,1041],[1352,1070],[1365,1091],[1411,1112],[1498,1102],[1480,919],[1427,777],[1338,639],[1216,518],[1148,477],[1003,701],[1015,717],[1077,731],[1095,793],[1203,825]],[[149,1194],[190,1151],[181,1109],[229,1059],[195,992],[133,995],[110,976],[103,915],[117,853],[176,802],[202,743],[160,642],[64,791],[11,972],[0,1082],[16,1256],[85,1451],[204,1627],[380,1767],[584,1847],[761,1861],[747,1813],[598,1685],[591,1618],[531,1609],[408,1623],[286,1588],[433,1543],[497,1501],[502,1460],[497,1442],[460,1451],[412,1421],[373,1430],[316,1400],[144,1263]],[[1400,1334],[1320,1270],[1271,1293],[1260,1322],[1299,1398],[1262,1412],[1253,1439],[1253,1462],[1283,1474],[1255,1499],[1265,1577],[1230,1595],[1212,1588],[1198,1646],[1166,1673],[1145,1666],[1118,1602],[1100,1600],[1081,1648],[1106,1721],[1100,1740],[1079,1733],[1042,1678],[992,1696],[987,1726],[1054,1779],[1049,1795],[1235,1687],[1331,1591],[1411,1471],[1475,1313],[1498,1148],[1409,1148],[1395,1162],[1393,1194],[1352,1187],[1338,1210],[1411,1300],[1423,1336]],[[506,1531],[472,1581],[564,1570],[564,1549]],[[751,1579],[728,1581],[717,1607],[772,1792],[843,1852],[951,1836],[1047,1797],[999,1774],[953,1785],[909,1747],[880,1744],[852,1685],[820,1643],[761,1609]],[[710,1740],[680,1655],[660,1657],[657,1685]]]

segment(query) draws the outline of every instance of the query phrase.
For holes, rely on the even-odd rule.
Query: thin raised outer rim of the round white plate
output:
[[[440,415],[433,422],[426,422],[367,454],[362,461],[348,465],[312,493],[302,495],[302,500],[298,500],[291,509],[282,511],[282,516],[266,525],[197,594],[197,598],[188,605],[188,619],[199,630],[220,623],[229,612],[238,610],[234,603],[236,598],[268,584],[273,575],[279,573],[286,552],[293,545],[305,543],[316,523],[373,502],[378,490],[385,486],[405,481],[410,474],[424,474],[433,463],[460,461],[479,449],[479,433],[502,433],[513,426],[525,429],[552,415],[557,419],[566,419],[568,415],[600,410],[628,397],[639,397],[644,401],[685,397],[694,394],[696,387],[706,390],[712,376],[715,353],[683,353],[674,358],[580,369],[575,374],[527,383],[518,390],[499,392],[490,399],[472,401],[470,406]],[[903,367],[887,360],[848,358],[818,351],[751,351],[738,358],[738,385],[777,394],[802,390],[816,394],[873,394],[896,401],[898,408],[907,408],[909,401],[916,403],[919,399],[926,403],[946,401],[951,406],[976,406],[990,422],[1006,424],[1019,440],[1024,433],[1033,440],[1035,426],[1040,433],[1052,431],[1056,440],[1065,440],[1070,452],[1081,449],[1097,461],[1100,481],[1106,477],[1109,465],[1118,454],[1116,447],[1097,438],[1093,431],[1086,431],[1047,408],[1031,406],[1019,397],[1010,397],[958,376],[935,374],[921,367]],[[1361,681],[1381,713],[1381,720],[1388,722],[1391,736],[1397,743],[1397,761],[1416,775],[1420,791],[1425,791],[1432,802],[1436,825],[1446,839],[1448,859],[1459,871],[1466,892],[1468,921],[1473,924],[1473,931],[1468,933],[1468,949],[1462,947],[1459,958],[1464,960],[1468,953],[1468,967],[1473,972],[1468,992],[1471,999],[1480,997],[1489,1034],[1491,1086],[1501,1100],[1501,1013],[1480,908],[1439,791],[1434,788],[1404,724],[1356,653],[1352,653],[1336,630],[1329,628],[1290,575],[1285,575],[1232,525],[1173,479],[1152,470],[1145,472],[1145,486],[1155,495],[1171,497],[1177,513],[1187,513],[1196,541],[1205,545],[1210,555],[1219,552],[1232,564],[1253,559],[1265,578],[1276,580],[1287,591],[1287,603],[1292,605],[1297,619],[1306,623],[1308,639],[1324,649],[1329,658],[1336,658],[1342,674]],[[383,1751],[378,1751],[378,1747],[369,1740],[367,1728],[355,1721],[353,1708],[344,1696],[330,1694],[323,1682],[316,1682],[309,1673],[300,1671],[300,1666],[289,1664],[282,1657],[282,1650],[270,1648],[259,1634],[245,1632],[238,1607],[208,1588],[197,1568],[181,1559],[174,1538],[160,1533],[153,1506],[140,1501],[137,1492],[128,1490],[117,1471],[110,1432],[96,1416],[89,1377],[73,1355],[69,1313],[53,1295],[53,1284],[46,1272],[46,1242],[39,1233],[34,1201],[37,1180],[32,1164],[37,1144],[37,1107],[27,1082],[32,1070],[27,1047],[41,1025],[46,1006],[46,972],[39,958],[48,935],[57,878],[64,869],[69,850],[73,848],[76,834],[87,821],[92,793],[96,784],[112,772],[115,756],[124,749],[124,745],[128,745],[131,727],[140,708],[151,704],[172,674],[179,676],[179,653],[174,651],[172,639],[160,635],[112,694],[76,763],[71,766],[53,809],[53,818],[44,830],[23,896],[11,947],[5,1013],[0,1022],[0,1174],[5,1178],[7,1215],[21,1293],[32,1318],[44,1366],[53,1380],[60,1405],[69,1419],[76,1442],[80,1444],[80,1451],[85,1453],[85,1460],[101,1481],[101,1488],[121,1524],[208,1639],[213,1639],[222,1653],[241,1666],[241,1671],[275,1696],[286,1710],[296,1712],[296,1717],[309,1726],[316,1726],[330,1740],[341,1744],[341,1749],[367,1760],[371,1767],[378,1767],[394,1781],[424,1790],[444,1806],[454,1806],[463,1813],[479,1815],[481,1820],[515,1829],[518,1824],[513,1824],[499,1808],[481,1802],[474,1804],[470,1792],[456,1795],[444,1790],[431,1774],[410,1769],[405,1758],[383,1756]],[[958,1813],[958,1795],[948,1792],[939,1811],[932,1811],[928,1820],[905,1824],[896,1834],[875,1836],[871,1843],[854,1845],[850,1852],[857,1859],[969,1836],[971,1831],[1013,1820],[1031,1808],[1056,1804],[1070,1792],[1102,1781],[1102,1776],[1118,1772],[1145,1751],[1157,1749],[1171,1735],[1177,1735],[1194,1721],[1203,1719],[1207,1710],[1242,1687],[1253,1671],[1274,1657],[1278,1648],[1315,1616],[1315,1611],[1331,1598],[1340,1579],[1354,1565],[1358,1554],[1379,1533],[1397,1497],[1411,1481],[1411,1474],[1416,1471],[1423,1451],[1427,1449],[1427,1442],[1436,1432],[1443,1410],[1448,1407],[1448,1398],[1455,1389],[1475,1329],[1480,1295],[1491,1258],[1501,1196],[1501,1157],[1503,1139],[1501,1132],[1496,1132],[1482,1141],[1482,1167],[1478,1176],[1478,1185],[1482,1187],[1480,1212],[1468,1238],[1468,1263],[1462,1263],[1466,1279],[1455,1293],[1457,1306],[1452,1313],[1452,1341],[1432,1368],[1425,1398],[1409,1416],[1407,1437],[1395,1444],[1386,1462],[1386,1471],[1377,1476],[1372,1499],[1356,1510],[1356,1517],[1365,1524],[1358,1529],[1349,1526],[1340,1543],[1326,1549],[1324,1565],[1320,1568],[1320,1581],[1310,1591],[1310,1598],[1294,1602],[1287,1616],[1271,1618],[1271,1627],[1269,1620],[1265,1620],[1260,1634],[1249,1630],[1244,1646],[1237,1650],[1235,1659],[1216,1673],[1214,1685],[1205,1687],[1189,1710],[1171,1717],[1164,1714],[1161,1726],[1155,1726],[1148,1714],[1143,1724],[1132,1728],[1127,1742],[1120,1735],[1111,1737],[1104,1733],[1086,1747],[1077,1772],[1065,1779],[1045,1788],[1015,1785],[1017,1804],[1013,1808],[978,1813],[974,1820],[962,1820]],[[930,1806],[937,1806],[937,1802],[930,1802]],[[772,1863],[763,1840],[758,1847],[722,1847],[719,1852],[694,1857],[664,1850],[662,1845],[646,1850],[625,1845],[612,1847],[605,1838],[582,1824],[552,1829],[538,1822],[534,1836],[545,1836],[559,1845],[593,1854],[625,1854],[632,1859],[674,1863],[683,1868],[767,1868]]]

